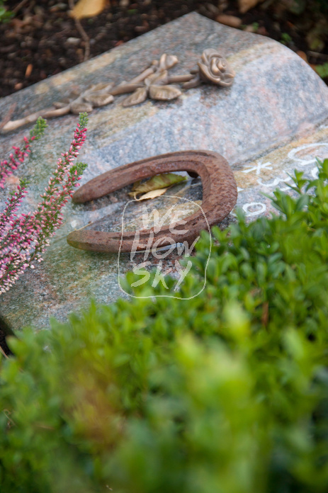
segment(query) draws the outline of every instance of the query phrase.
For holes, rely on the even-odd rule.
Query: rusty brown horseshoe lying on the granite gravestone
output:
[[[133,245],[134,231],[108,233],[94,229],[69,233],[68,244],[89,251],[125,252],[132,251],[132,248],[142,251],[145,248],[171,245],[172,241],[187,241],[191,244],[199,232],[207,228],[205,217],[208,224],[213,226],[234,208],[237,202],[237,184],[229,164],[217,152],[203,150],[171,152],[111,169],[81,186],[72,198],[75,203],[89,202],[135,181],[169,171],[187,171],[193,177],[200,176],[203,185],[203,210],[185,217],[182,223],[171,223],[155,230],[140,230],[137,246]]]

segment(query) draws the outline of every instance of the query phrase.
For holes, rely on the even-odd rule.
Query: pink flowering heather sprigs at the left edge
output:
[[[74,139],[67,152],[57,161],[57,169],[51,176],[42,200],[34,212],[16,215],[27,193],[27,182],[20,181],[16,192],[6,202],[6,208],[0,214],[0,294],[5,293],[16,282],[26,268],[34,268],[33,262],[42,261],[42,254],[49,244],[50,237],[62,224],[62,208],[67,203],[74,188],[79,186],[79,179],[86,168],[84,163],[72,164],[79,154],[79,149],[86,139],[86,113],[80,113],[79,123],[74,132]],[[16,159],[22,162],[30,151],[30,142],[38,139],[45,130],[45,120],[39,118],[30,134],[30,140],[24,139],[23,150],[14,148]],[[15,157],[9,162],[1,162],[2,176],[16,169]],[[1,181],[0,181],[1,185]]]

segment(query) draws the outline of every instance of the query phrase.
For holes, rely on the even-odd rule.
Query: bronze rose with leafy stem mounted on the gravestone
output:
[[[123,106],[134,106],[143,103],[147,98],[157,101],[171,101],[181,96],[181,89],[191,89],[202,83],[229,87],[234,80],[234,70],[222,55],[208,48],[201,55],[196,69],[189,74],[170,75],[169,69],[179,62],[175,55],[162,55],[154,60],[149,67],[130,81],[123,81],[117,86],[111,82],[95,84],[75,97],[55,102],[52,108],[45,108],[21,118],[11,120],[2,126],[1,132],[10,132],[16,128],[33,123],[42,118],[55,118],[67,113],[90,113],[94,108],[113,103],[115,96],[131,93],[123,101]],[[177,85],[181,84],[181,88]],[[1,125],[0,125],[1,128]]]

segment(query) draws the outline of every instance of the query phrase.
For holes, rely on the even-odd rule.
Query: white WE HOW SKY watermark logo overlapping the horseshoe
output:
[[[199,236],[193,241],[192,244],[188,244],[186,240],[181,243],[176,243],[174,234],[188,234],[188,222],[186,219],[183,219],[183,217],[186,216],[186,206],[187,210],[188,206],[190,206],[193,212],[198,212],[198,210],[201,211],[205,218],[205,223],[209,233],[210,225],[208,224],[208,220],[201,206],[198,203],[193,202],[193,200],[177,196],[164,196],[161,199],[167,199],[170,203],[169,208],[162,215],[160,215],[159,210],[157,210],[157,208],[155,208],[151,203],[142,203],[142,227],[135,231],[130,254],[122,254],[121,246],[123,241],[123,232],[125,231],[125,226],[127,223],[125,218],[128,216],[128,208],[129,206],[131,207],[132,203],[135,203],[136,200],[129,200],[128,203],[125,204],[122,214],[122,236],[120,250],[118,251],[118,285],[123,293],[128,294],[131,297],[174,297],[178,300],[190,300],[191,298],[198,296],[205,288],[206,269],[210,259],[212,240],[210,237],[210,248],[205,266],[203,285],[200,289],[198,288],[197,293],[193,293],[188,297],[183,297],[180,289],[184,283],[188,282],[188,275],[192,266],[192,262],[189,257],[191,256],[193,247],[198,241]],[[172,199],[178,199],[177,203],[171,205]],[[183,204],[185,207],[182,207],[181,200],[185,200],[185,204]],[[176,229],[178,225],[179,230]],[[161,243],[163,243],[162,237],[154,242],[155,235],[162,227],[168,228],[168,233],[165,237],[166,246],[161,246]],[[149,237],[147,237],[147,243],[145,242],[145,239],[142,238],[142,231],[145,229],[150,229]],[[134,279],[128,286],[126,286],[127,280],[125,280],[125,283],[122,283],[122,278],[120,277],[120,259],[122,255],[129,256],[129,260],[132,262],[132,271],[137,276],[137,279]],[[179,261],[182,258],[184,259],[183,265],[181,265]],[[170,282],[168,282],[167,276],[171,277]],[[172,279],[174,280],[174,283],[172,283]],[[161,294],[158,295],[154,294],[154,290],[152,290],[151,295],[131,294],[132,292],[135,292],[134,288],[138,288],[140,286],[157,288],[159,285],[162,285],[162,290]]]

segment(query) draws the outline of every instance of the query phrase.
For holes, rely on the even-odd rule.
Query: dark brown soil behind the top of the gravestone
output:
[[[325,2],[307,2],[310,11],[295,15],[281,1],[271,0],[244,14],[233,0],[111,0],[101,14],[81,21],[89,38],[86,42],[69,16],[68,0],[8,0],[5,5],[14,16],[9,23],[0,23],[0,97],[83,62],[88,44],[89,57],[94,57],[191,11],[212,19],[222,13],[237,16],[242,28],[249,26],[283,40],[292,50],[305,52],[310,63],[322,64],[328,62],[328,21],[322,21],[324,14],[318,12],[317,4]],[[311,51],[310,45],[315,45],[311,33],[318,25],[318,49]]]

